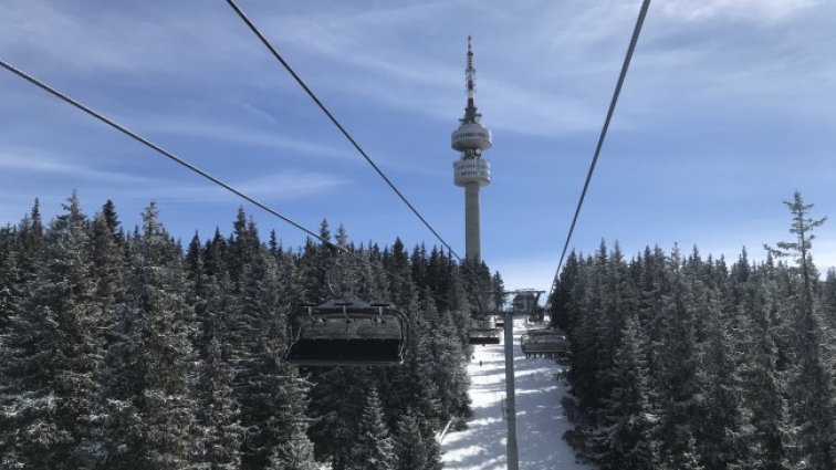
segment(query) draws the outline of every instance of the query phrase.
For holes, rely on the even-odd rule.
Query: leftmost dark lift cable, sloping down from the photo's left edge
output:
[[[46,83],[44,83],[44,82],[35,79],[34,76],[29,75],[28,73],[21,71],[20,69],[14,67],[13,65],[9,64],[8,62],[6,62],[3,60],[0,60],[0,66],[2,66],[3,69],[8,70],[9,72],[11,72],[11,73],[20,76],[21,79],[25,80],[27,82],[29,82],[29,83],[31,83],[31,84],[40,87],[41,90],[50,93],[51,95],[55,96],[56,98],[59,98],[59,100],[61,100],[61,101],[63,101],[63,102],[72,105],[73,107],[75,107],[75,108],[77,108],[80,111],[83,111],[84,113],[88,114],[90,116],[93,116],[96,119],[98,119],[98,121],[107,124],[108,126],[111,126],[114,129],[121,132],[122,134],[127,135],[128,137],[130,137],[134,140],[136,140],[138,143],[145,145],[146,147],[149,147],[149,148],[156,150],[157,153],[164,155],[165,157],[167,157],[170,160],[179,164],[180,166],[189,169],[190,171],[196,173],[196,174],[200,175],[201,177],[203,177],[203,178],[206,178],[206,179],[215,182],[216,185],[218,185],[218,186],[222,187],[223,189],[226,189],[226,190],[234,194],[236,196],[238,196],[238,197],[247,200],[248,202],[252,203],[253,206],[255,206],[255,207],[258,207],[258,208],[267,211],[268,213],[270,213],[272,216],[278,217],[279,219],[283,220],[284,222],[291,224],[292,227],[294,227],[294,228],[303,231],[307,236],[313,237],[314,239],[318,240],[320,242],[322,242],[323,244],[327,246],[328,248],[331,248],[333,250],[336,250],[336,251],[342,251],[342,252],[344,252],[344,253],[346,253],[346,254],[355,258],[356,260],[360,261],[360,263],[366,264],[369,268],[380,270],[380,272],[389,274],[389,275],[391,275],[395,279],[398,279],[400,281],[406,281],[401,275],[398,275],[398,274],[396,274],[396,273],[387,270],[386,268],[384,268],[382,265],[374,264],[372,261],[369,261],[369,260],[360,257],[359,254],[357,254],[357,253],[355,253],[353,251],[348,251],[348,249],[346,249],[345,247],[342,247],[339,244],[335,244],[334,242],[324,239],[323,237],[321,237],[316,232],[314,232],[314,231],[305,228],[301,223],[299,223],[299,222],[294,221],[293,219],[291,219],[291,218],[282,215],[278,210],[272,209],[271,207],[267,206],[265,203],[259,201],[258,199],[255,199],[255,198],[253,198],[253,197],[244,194],[240,189],[237,189],[236,187],[233,187],[233,186],[231,186],[231,185],[229,185],[227,182],[223,182],[219,178],[217,178],[217,177],[210,175],[209,173],[207,173],[207,171],[205,171],[205,170],[196,167],[195,165],[192,165],[192,164],[188,163],[187,160],[178,157],[177,155],[173,154],[171,152],[166,150],[165,148],[163,148],[163,147],[154,144],[153,142],[148,140],[147,138],[145,138],[145,137],[136,134],[135,132],[133,132],[133,130],[128,129],[127,127],[125,127],[125,126],[116,123],[115,121],[106,117],[105,115],[103,115],[103,114],[101,114],[101,113],[92,109],[91,107],[82,104],[81,102],[71,98],[66,94],[64,94],[64,93],[62,93],[62,92],[53,88],[52,86],[50,86]],[[416,289],[418,289],[419,291],[424,292],[425,294],[428,294],[429,296],[436,299],[437,301],[439,301],[442,304],[447,304],[447,305],[450,304],[450,302],[448,300],[446,300],[443,297],[440,297],[439,295],[437,295],[436,293],[433,293],[432,291],[430,291],[427,288],[424,288],[424,286],[420,286],[420,285],[416,285]]]

